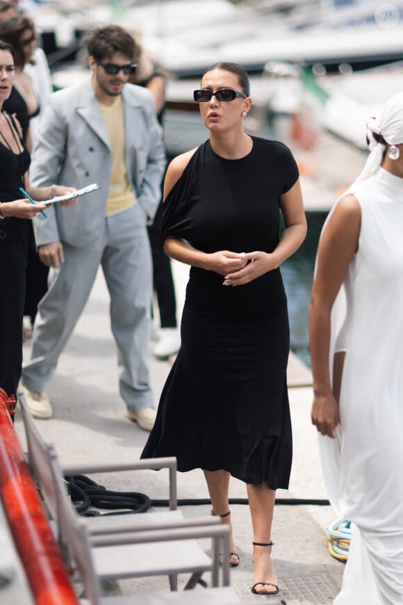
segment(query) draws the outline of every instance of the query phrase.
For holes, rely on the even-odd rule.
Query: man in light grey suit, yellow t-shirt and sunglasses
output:
[[[91,76],[55,92],[43,115],[31,164],[35,186],[99,184],[72,208],[49,207],[35,225],[50,287],[38,307],[31,360],[22,385],[33,416],[49,418],[45,382],[72,334],[101,264],[110,293],[120,394],[127,416],[145,429],[156,410],[149,385],[152,268],[147,221],[154,216],[165,168],[162,131],[146,88],[127,83],[135,42],[119,26],[86,38]]]

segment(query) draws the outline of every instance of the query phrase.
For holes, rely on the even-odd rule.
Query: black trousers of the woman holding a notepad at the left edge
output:
[[[0,239],[0,387],[8,396],[17,393],[22,371],[28,227],[32,228],[29,223],[26,227],[27,237]]]

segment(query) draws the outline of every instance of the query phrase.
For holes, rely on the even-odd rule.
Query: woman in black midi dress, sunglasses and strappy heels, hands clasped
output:
[[[213,65],[195,100],[209,139],[170,163],[164,186],[165,252],[191,265],[182,344],[142,457],[175,455],[179,471],[203,469],[212,512],[229,524],[229,477],[245,481],[252,592],[273,595],[275,490],[288,487],[292,458],[279,265],[306,234],[299,175],[285,145],[244,133],[252,99],[242,67]]]

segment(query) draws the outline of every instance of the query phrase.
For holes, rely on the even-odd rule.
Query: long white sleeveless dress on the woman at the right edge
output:
[[[354,523],[337,605],[403,604],[403,179],[379,168],[349,191],[361,206],[345,278],[337,439],[320,436],[324,481]],[[341,305],[343,307],[343,305]],[[336,302],[335,312],[340,305]],[[336,315],[336,313],[335,313]]]

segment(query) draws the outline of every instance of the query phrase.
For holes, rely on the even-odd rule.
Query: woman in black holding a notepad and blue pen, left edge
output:
[[[31,159],[22,143],[19,123],[3,111],[15,79],[13,53],[13,47],[0,40],[0,389],[9,398],[15,395],[21,375],[31,219],[46,210],[45,204],[35,202],[75,191],[56,185],[32,187],[29,182]],[[60,203],[70,205],[75,201],[76,197]]]

